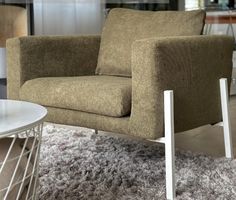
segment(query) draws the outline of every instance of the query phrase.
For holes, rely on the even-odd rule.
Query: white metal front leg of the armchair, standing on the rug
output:
[[[166,198],[174,200],[175,192],[175,140],[174,140],[174,97],[173,91],[164,92],[165,114],[165,159],[166,159]]]

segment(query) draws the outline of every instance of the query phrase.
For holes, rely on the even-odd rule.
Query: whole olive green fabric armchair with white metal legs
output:
[[[204,18],[203,11],[113,9],[101,36],[8,40],[8,98],[46,106],[49,122],[165,143],[166,195],[174,199],[174,133],[223,116],[233,157],[233,39],[201,35]]]

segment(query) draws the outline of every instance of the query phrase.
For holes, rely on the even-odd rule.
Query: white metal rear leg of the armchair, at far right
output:
[[[225,156],[226,158],[233,158],[233,145],[231,135],[231,124],[229,118],[229,99],[228,99],[228,83],[226,78],[220,79],[220,96],[221,109],[223,117],[224,142],[225,142]]]

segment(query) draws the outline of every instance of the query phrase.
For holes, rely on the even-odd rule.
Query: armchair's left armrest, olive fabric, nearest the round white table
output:
[[[7,41],[7,93],[18,99],[27,80],[94,75],[100,36],[30,36]]]

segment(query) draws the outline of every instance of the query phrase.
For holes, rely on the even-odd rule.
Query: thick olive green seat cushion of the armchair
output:
[[[26,81],[20,99],[111,117],[131,112],[131,79],[114,76],[46,77]]]

